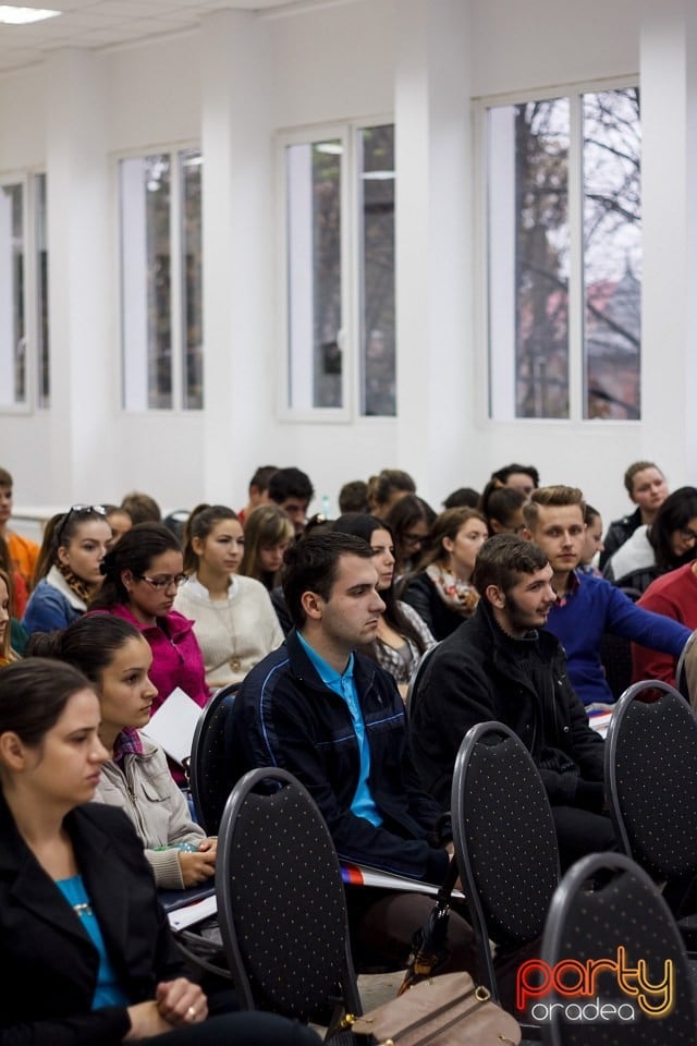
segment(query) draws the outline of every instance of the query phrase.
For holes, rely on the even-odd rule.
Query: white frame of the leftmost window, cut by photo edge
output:
[[[38,402],[38,251],[36,242],[36,177],[46,174],[44,168],[5,171],[0,185],[22,185],[22,227],[24,239],[24,329],[26,342],[26,399],[23,403],[0,403],[0,415],[29,415],[50,410]],[[50,330],[50,315],[49,315]],[[50,366],[50,356],[49,356]]]

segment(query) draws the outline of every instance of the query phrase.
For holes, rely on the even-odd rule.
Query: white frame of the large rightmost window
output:
[[[477,343],[482,346],[482,367],[479,379],[481,396],[479,400],[479,423],[485,426],[515,425],[601,425],[610,429],[621,426],[641,424],[640,418],[597,418],[584,417],[584,394],[586,376],[584,373],[584,295],[583,295],[583,142],[582,142],[582,96],[601,90],[621,90],[637,87],[638,74],[584,81],[573,84],[554,84],[513,94],[490,95],[474,101],[476,156],[478,157],[476,185],[476,242],[480,264],[479,285],[475,287],[475,325],[478,331]],[[568,149],[568,232],[570,232],[570,273],[568,273],[568,417],[516,417],[515,409],[510,415],[494,416],[497,391],[494,384],[494,364],[490,352],[489,318],[489,233],[488,233],[488,142],[487,112],[500,106],[525,105],[551,98],[568,98],[570,101],[570,149]],[[513,372],[514,358],[511,356],[509,374]],[[641,366],[641,364],[639,364]],[[502,370],[505,365],[503,365]],[[502,374],[502,380],[506,376]]]

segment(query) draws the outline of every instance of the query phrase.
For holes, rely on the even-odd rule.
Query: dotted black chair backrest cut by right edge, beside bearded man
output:
[[[697,717],[673,686],[645,680],[625,691],[604,769],[625,853],[655,879],[697,873]]]

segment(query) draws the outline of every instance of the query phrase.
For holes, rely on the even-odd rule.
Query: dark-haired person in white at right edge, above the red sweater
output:
[[[644,592],[697,554],[697,489],[680,487],[665,498],[650,525],[643,524],[608,560],[604,576],[621,588]]]

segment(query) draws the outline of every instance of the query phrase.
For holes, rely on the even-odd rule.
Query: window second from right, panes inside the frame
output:
[[[396,413],[394,129],[284,136],[285,406]]]

